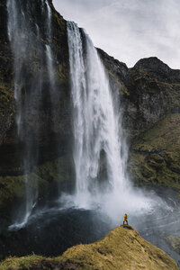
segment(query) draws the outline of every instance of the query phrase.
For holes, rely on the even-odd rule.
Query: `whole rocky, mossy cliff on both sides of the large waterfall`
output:
[[[51,36],[42,11],[45,1],[37,0],[29,6],[32,22],[32,42],[23,63],[23,100],[29,98],[32,81],[41,77],[41,96],[34,96],[33,110],[24,110],[22,125],[26,138],[33,134],[31,148],[38,148],[37,167],[29,174],[37,179],[40,196],[56,193],[73,185],[71,154],[71,102],[67,48],[67,23],[49,0],[52,14]],[[27,8],[22,2],[24,8]],[[16,104],[14,100],[14,54],[8,38],[7,2],[0,4],[0,211],[7,217],[12,202],[24,195],[24,142],[17,136]],[[37,50],[41,48],[41,54]],[[46,48],[52,49],[54,86],[53,113],[49,97]],[[132,68],[98,49],[112,91],[119,94],[122,126],[130,145],[129,171],[136,184],[158,184],[179,189],[179,108],[180,70],[173,70],[157,58],[145,58]],[[20,57],[21,62],[21,57]],[[31,65],[30,65],[31,63]],[[20,85],[19,85],[20,86]],[[39,107],[37,107],[37,103]],[[52,115],[53,114],[53,115]],[[53,119],[53,122],[52,122]],[[39,128],[37,128],[39,126]],[[58,149],[57,149],[58,140]],[[68,183],[68,184],[67,184]],[[59,187],[59,185],[58,185]]]

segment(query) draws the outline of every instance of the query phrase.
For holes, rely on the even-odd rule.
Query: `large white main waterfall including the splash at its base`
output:
[[[77,207],[96,204],[109,213],[147,207],[148,201],[130,189],[121,114],[98,53],[76,23],[67,23],[67,37],[76,168],[76,192],[67,197]]]

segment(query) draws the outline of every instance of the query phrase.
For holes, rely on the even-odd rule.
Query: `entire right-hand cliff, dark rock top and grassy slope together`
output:
[[[158,58],[140,59],[128,68],[101,49],[99,53],[113,90],[120,93],[131,178],[179,190],[180,70]]]

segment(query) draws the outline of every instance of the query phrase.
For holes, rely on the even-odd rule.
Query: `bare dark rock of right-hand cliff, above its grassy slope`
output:
[[[120,92],[124,109],[123,127],[130,138],[150,128],[168,113],[179,112],[180,70],[173,70],[158,58],[144,58],[132,68],[100,56],[110,76],[112,88]]]

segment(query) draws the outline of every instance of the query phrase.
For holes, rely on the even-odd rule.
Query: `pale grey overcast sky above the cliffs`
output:
[[[128,67],[157,56],[180,69],[180,0],[53,0],[68,21],[85,28],[94,46]]]

